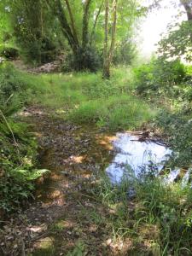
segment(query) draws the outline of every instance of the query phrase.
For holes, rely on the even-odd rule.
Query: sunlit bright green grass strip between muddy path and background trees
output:
[[[131,94],[130,69],[115,69],[110,81],[103,80],[101,73],[15,73],[22,88],[21,102],[61,109],[63,117],[74,123],[92,123],[113,131],[136,129],[155,114]]]

